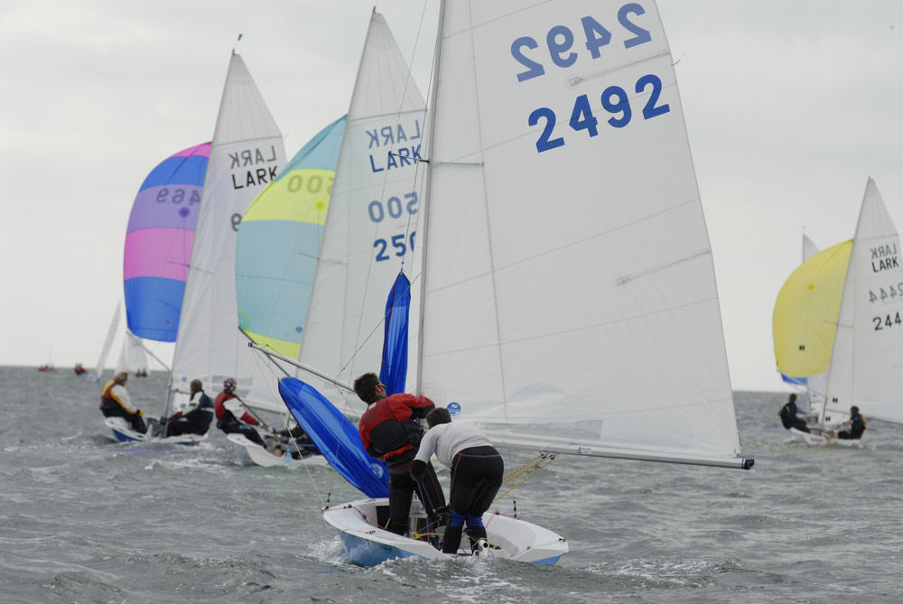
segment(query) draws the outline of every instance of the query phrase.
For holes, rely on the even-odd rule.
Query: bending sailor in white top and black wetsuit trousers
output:
[[[470,423],[439,423],[426,432],[411,473],[416,477],[436,457],[452,469],[449,507],[452,519],[445,528],[442,552],[456,553],[465,521],[471,544],[486,538],[483,513],[492,505],[505,474],[505,463],[488,438]]]

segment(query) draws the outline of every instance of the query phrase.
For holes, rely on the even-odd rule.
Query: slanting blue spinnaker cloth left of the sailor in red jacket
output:
[[[334,404],[296,377],[279,380],[279,394],[295,422],[352,487],[368,497],[389,496],[386,464],[364,451],[358,428]]]

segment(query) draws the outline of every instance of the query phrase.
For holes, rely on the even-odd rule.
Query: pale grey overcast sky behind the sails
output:
[[[372,6],[0,0],[0,365],[94,366],[122,298],[138,186],[163,158],[209,141],[238,33],[291,157],[347,111]],[[437,6],[377,3],[422,90]],[[903,225],[903,2],[658,6],[712,238],[731,382],[786,390],[771,313],[804,229],[823,248],[851,238],[869,175]],[[172,357],[172,345],[152,346]]]

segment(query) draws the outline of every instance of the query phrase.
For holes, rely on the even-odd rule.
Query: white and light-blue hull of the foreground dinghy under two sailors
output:
[[[428,541],[418,541],[379,528],[379,507],[387,509],[388,499],[361,499],[323,509],[323,519],[339,532],[342,546],[351,560],[364,566],[376,566],[395,558],[443,560],[452,557],[435,549]],[[418,520],[424,522],[425,518],[423,506],[414,501],[411,526],[416,526]],[[486,526],[489,541],[489,549],[485,550],[483,557],[554,564],[568,552],[567,541],[561,535],[520,518],[490,511],[483,515],[483,525]],[[461,543],[461,553],[469,553],[468,539],[462,538]]]

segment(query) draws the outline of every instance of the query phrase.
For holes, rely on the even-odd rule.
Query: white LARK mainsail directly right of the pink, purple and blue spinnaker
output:
[[[235,52],[210,147],[171,387],[187,391],[200,378],[208,389],[233,376],[248,404],[281,410],[275,379],[263,371],[238,331],[235,244],[247,206],[285,163],[282,135],[245,63]]]

